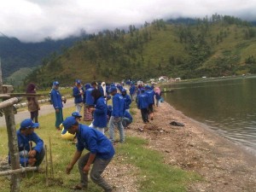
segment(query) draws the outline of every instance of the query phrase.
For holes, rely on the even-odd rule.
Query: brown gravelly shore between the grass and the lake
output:
[[[185,126],[170,125],[172,120]],[[126,134],[147,138],[150,148],[165,154],[166,164],[199,173],[202,181],[192,183],[188,191],[256,191],[256,156],[166,102],[155,108],[148,125],[137,110]]]

